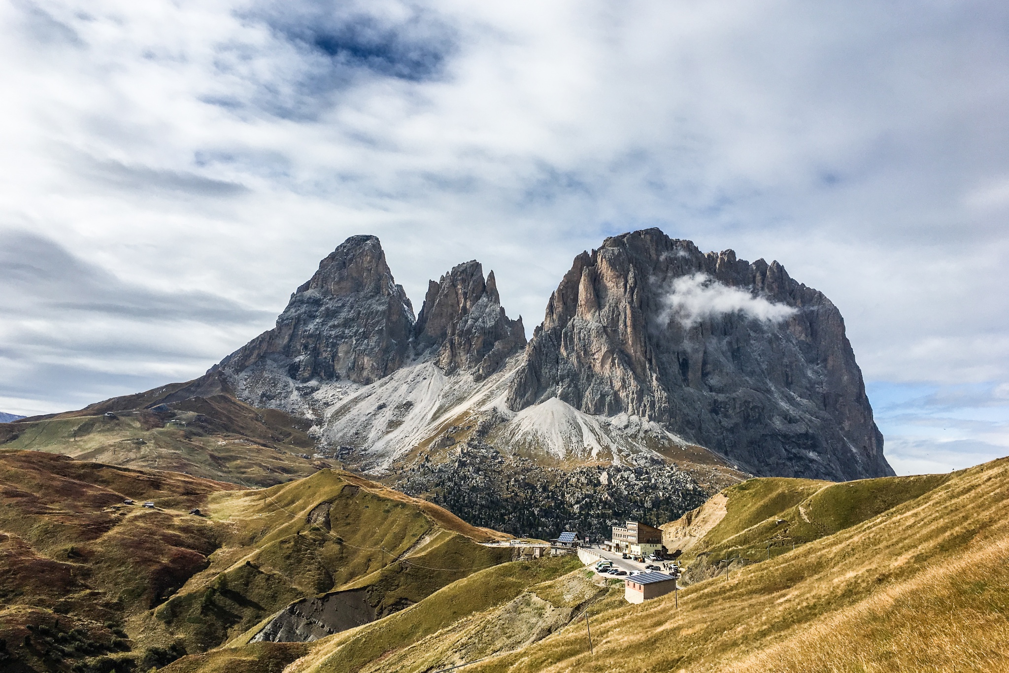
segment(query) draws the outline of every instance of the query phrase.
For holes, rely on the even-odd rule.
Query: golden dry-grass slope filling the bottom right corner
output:
[[[925,492],[697,582],[680,592],[679,609],[671,595],[600,602],[589,610],[594,656],[582,625],[467,670],[1009,670],[1009,459],[850,488],[823,491],[810,520],[823,508],[844,526]]]

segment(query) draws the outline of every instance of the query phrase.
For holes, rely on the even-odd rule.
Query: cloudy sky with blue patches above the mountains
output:
[[[0,411],[201,374],[346,237],[531,333],[657,226],[846,318],[900,474],[1009,453],[1009,4],[0,0]]]

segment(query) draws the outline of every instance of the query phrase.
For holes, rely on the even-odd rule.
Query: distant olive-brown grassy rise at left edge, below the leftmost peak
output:
[[[145,400],[129,396],[81,412],[0,424],[0,447],[187,472],[250,486],[308,476],[326,466],[307,457],[314,442],[307,434],[311,422],[306,419],[253,409],[227,395],[153,409],[123,406]],[[112,404],[116,401],[122,404]],[[116,410],[114,416],[104,416],[111,409]]]

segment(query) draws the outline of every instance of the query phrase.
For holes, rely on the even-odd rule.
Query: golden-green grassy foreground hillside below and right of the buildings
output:
[[[743,560],[681,591],[678,609],[673,596],[628,604],[622,583],[572,557],[509,563],[268,656],[288,673],[1009,671],[1009,459],[840,484],[752,479],[722,495],[688,560]],[[774,536],[802,544],[746,560]],[[167,670],[229,670],[263,645],[232,641]]]

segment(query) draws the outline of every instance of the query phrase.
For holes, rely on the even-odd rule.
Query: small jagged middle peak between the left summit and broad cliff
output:
[[[484,281],[475,260],[455,266],[438,283],[431,281],[415,335],[417,350],[434,353],[445,373],[466,369],[478,379],[526,345],[522,317],[509,319],[494,272]]]

